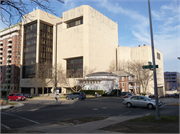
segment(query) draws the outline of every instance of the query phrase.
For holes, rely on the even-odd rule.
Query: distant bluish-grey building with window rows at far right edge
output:
[[[165,90],[180,90],[180,73],[164,72]]]

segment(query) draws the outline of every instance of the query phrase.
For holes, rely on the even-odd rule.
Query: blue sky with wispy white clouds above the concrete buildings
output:
[[[52,0],[58,17],[89,5],[118,24],[118,45],[151,45],[148,0]],[[163,53],[164,72],[180,72],[180,0],[150,0],[154,47]],[[28,7],[29,11],[33,8]],[[39,8],[40,9],[40,8]],[[6,28],[0,23],[0,30]]]

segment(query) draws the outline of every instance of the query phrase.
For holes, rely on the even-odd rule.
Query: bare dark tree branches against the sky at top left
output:
[[[56,1],[64,3],[63,0]],[[1,0],[0,19],[8,26],[12,25],[15,17],[18,17],[17,22],[19,22],[25,14],[29,13],[28,6],[38,6],[46,12],[56,15],[51,3],[52,0]]]

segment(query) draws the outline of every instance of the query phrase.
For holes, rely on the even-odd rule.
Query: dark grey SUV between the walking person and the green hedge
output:
[[[71,94],[68,94],[67,96],[66,96],[66,99],[67,100],[69,100],[69,99],[77,99],[77,100],[79,100],[79,99],[81,99],[81,100],[84,100],[84,99],[86,99],[86,94],[84,93],[84,92],[73,92],[73,93],[71,93]]]

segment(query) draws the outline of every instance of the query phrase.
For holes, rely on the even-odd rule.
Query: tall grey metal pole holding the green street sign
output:
[[[160,115],[159,115],[157,77],[156,77],[156,64],[155,64],[155,57],[154,57],[154,41],[153,41],[153,30],[152,30],[152,21],[151,21],[150,0],[148,0],[148,7],[149,7],[149,23],[150,23],[152,61],[153,61],[153,73],[154,73],[154,92],[155,92],[155,98],[156,98],[156,119],[159,120],[160,119]]]

